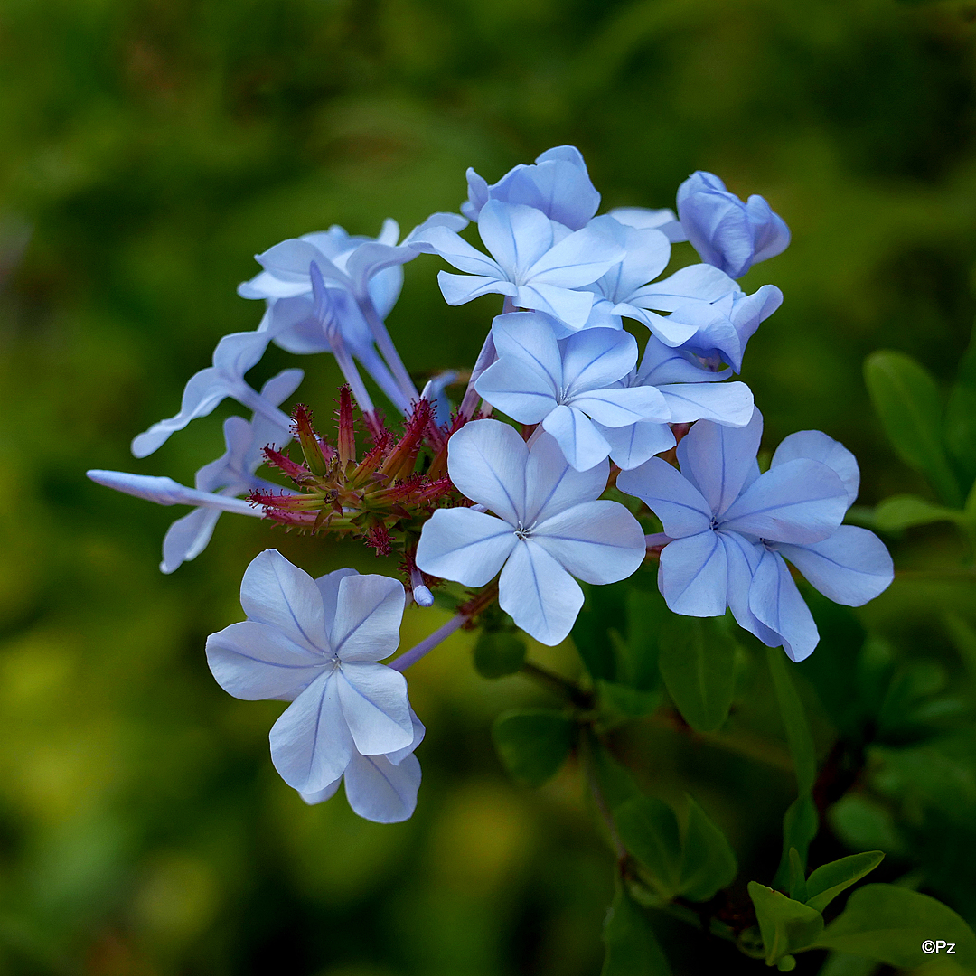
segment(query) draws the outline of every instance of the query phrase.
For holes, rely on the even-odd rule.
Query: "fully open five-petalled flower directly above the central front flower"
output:
[[[637,361],[627,332],[586,329],[557,341],[542,312],[510,312],[492,325],[498,360],[475,389],[521,424],[542,424],[578,471],[604,461],[602,429],[640,421],[666,422],[671,413],[654,386],[619,386]]]

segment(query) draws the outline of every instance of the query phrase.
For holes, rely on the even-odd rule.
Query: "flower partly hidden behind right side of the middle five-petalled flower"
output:
[[[624,377],[621,385],[656,389],[668,410],[668,423],[652,419],[626,426],[597,426],[610,445],[610,460],[627,470],[669,450],[674,446],[671,424],[705,419],[745,427],[752,420],[752,390],[744,383],[720,382],[730,374],[731,370],[703,369],[689,353],[649,337],[640,367]]]

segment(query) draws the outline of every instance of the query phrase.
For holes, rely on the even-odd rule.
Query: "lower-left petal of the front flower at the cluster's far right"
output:
[[[658,586],[674,613],[685,617],[725,613],[728,562],[718,533],[709,529],[675,539],[662,549]]]

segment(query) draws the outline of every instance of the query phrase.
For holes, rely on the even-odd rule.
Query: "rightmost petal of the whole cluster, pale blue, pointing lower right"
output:
[[[825,596],[845,606],[873,600],[895,578],[884,543],[874,532],[855,525],[841,525],[819,543],[777,549]]]

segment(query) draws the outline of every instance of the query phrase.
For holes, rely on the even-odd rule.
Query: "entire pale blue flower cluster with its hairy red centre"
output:
[[[271,729],[271,757],[307,802],[345,780],[360,815],[410,816],[424,726],[402,671],[496,601],[515,626],[556,644],[584,603],[577,580],[614,583],[660,557],[659,586],[673,612],[728,608],[798,661],[818,635],[785,560],[841,603],[864,603],[891,582],[879,540],[842,524],[858,487],[845,448],[803,431],[784,440],[768,470],[756,461],[762,419],[750,388],[733,377],[782,295],[771,284],[747,293],[737,279],[787,247],[783,220],[762,197],[743,202],[709,173],[680,185],[676,214],[597,215],[599,205],[580,152],[559,146],[497,183],[469,170],[462,214],[435,214],[402,240],[387,221],[376,238],[333,226],[271,247],[239,288],[264,301],[258,328],[224,337],[213,365],[186,385],[179,413],[133,441],[146,457],[231,397],[253,416],[225,422],[224,456],[197,472],[192,489],[89,472],[120,491],[193,508],[167,533],[164,572],[206,547],[222,511],[399,554],[403,583],[353,570],[312,580],[269,549],[244,575],[247,619],[207,642],[211,670],[230,694],[291,703]],[[468,222],[483,250],[461,235]],[[672,247],[683,242],[700,260],[668,273]],[[448,305],[503,299],[470,371],[431,377],[419,391],[386,317],[403,265],[420,255],[453,268],[438,275]],[[335,357],[346,386],[334,443],[304,406],[291,416],[280,409],[301,370],[260,391],[245,380],[272,342]],[[360,370],[402,430],[386,425]],[[289,454],[293,438],[301,460]],[[290,484],[259,476],[263,463]],[[614,483],[615,498],[602,497]],[[620,492],[633,496],[633,510]],[[638,516],[652,512],[664,532],[645,535]],[[459,601],[452,583],[475,592]],[[430,606],[437,590],[445,600],[454,594],[453,619],[380,664],[398,645],[408,600]]]

